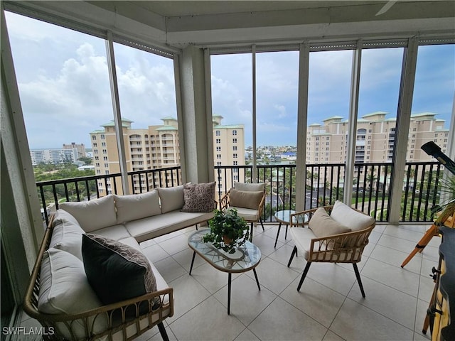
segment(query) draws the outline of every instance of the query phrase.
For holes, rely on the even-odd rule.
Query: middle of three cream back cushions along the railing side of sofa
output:
[[[133,195],[114,195],[114,201],[118,224],[161,214],[157,190]]]

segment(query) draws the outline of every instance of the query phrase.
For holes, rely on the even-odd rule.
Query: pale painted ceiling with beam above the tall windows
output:
[[[144,43],[182,48],[455,35],[455,1],[3,1]],[[19,9],[21,8],[21,9]],[[381,10],[387,9],[386,11]],[[39,15],[38,15],[39,16]]]

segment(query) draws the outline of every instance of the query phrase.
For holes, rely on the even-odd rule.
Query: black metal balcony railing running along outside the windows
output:
[[[387,222],[392,188],[392,163],[355,163],[351,205],[373,215],[377,222]],[[331,205],[343,200],[344,164],[308,164],[305,174],[306,209]],[[432,208],[439,202],[439,163],[407,163],[402,188],[401,222],[432,222]],[[128,173],[132,193],[142,193],[158,187],[181,185],[181,168],[159,168]],[[259,182],[266,183],[266,205],[262,220],[274,221],[277,210],[296,207],[296,166],[257,166]],[[217,200],[235,181],[252,183],[252,166],[215,166]],[[81,178],[40,181],[36,183],[43,207],[43,220],[48,222],[48,208],[62,201],[83,201],[107,194],[122,194],[120,173],[92,175]]]

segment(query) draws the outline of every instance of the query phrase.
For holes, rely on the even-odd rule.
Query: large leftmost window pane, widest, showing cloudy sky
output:
[[[5,14],[36,180],[95,174],[102,136],[112,135],[98,134],[113,119],[105,40]],[[56,185],[55,191],[59,201],[87,200],[106,195],[109,181]],[[47,206],[53,188],[43,190]]]

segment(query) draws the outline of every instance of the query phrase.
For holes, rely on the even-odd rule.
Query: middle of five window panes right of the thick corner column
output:
[[[352,56],[351,50],[310,53],[306,208],[343,197]]]

